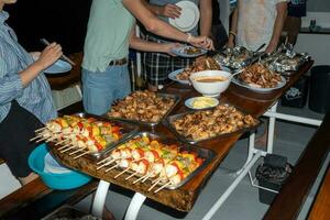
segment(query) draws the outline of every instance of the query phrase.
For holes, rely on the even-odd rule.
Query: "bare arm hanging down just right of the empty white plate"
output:
[[[199,10],[200,10],[200,20],[199,20],[200,35],[210,36],[211,26],[212,26],[212,0],[200,0]]]

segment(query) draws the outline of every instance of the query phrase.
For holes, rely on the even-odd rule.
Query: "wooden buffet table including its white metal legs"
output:
[[[256,94],[245,88],[238,87],[233,84],[229,87],[229,89],[221,95],[220,102],[229,102],[237,106],[240,109],[243,109],[246,113],[250,113],[256,118],[261,117],[264,112],[267,111],[270,107],[272,107],[277,99],[283,95],[283,92],[289,88],[298,78],[304,75],[312,65],[314,62],[308,62],[299,70],[297,70],[294,75],[288,78],[288,81],[285,87],[274,90],[270,94]],[[184,101],[194,96],[198,96],[198,94],[194,90],[193,87],[187,87],[178,84],[172,84],[164,89],[165,92],[178,95],[182,98],[179,105],[172,112],[178,113],[186,111],[186,107],[184,106]],[[140,128],[143,131],[150,131],[150,128]],[[153,132],[163,133],[168,136],[173,136],[173,134],[165,128],[164,125],[157,125]],[[158,201],[165,206],[172,207],[179,211],[189,211],[200,194],[202,187],[207,184],[208,179],[212,175],[212,173],[217,169],[219,164],[229,153],[233,144],[239,140],[240,135],[232,135],[222,139],[215,139],[211,141],[205,141],[198,143],[198,145],[210,148],[216,152],[215,160],[198,175],[196,175],[191,180],[176,190],[163,189],[157,194],[153,191],[147,191],[150,188],[150,184],[138,183],[132,185],[131,182],[127,182],[124,178],[128,176],[123,174],[120,178],[113,178],[119,172],[110,170],[105,173],[106,168],[101,168],[99,170],[96,169],[97,165],[95,162],[89,161],[87,158],[80,157],[74,160],[73,156],[68,154],[61,154],[56,151],[56,147],[53,148],[53,153],[58,160],[61,160],[65,165],[82,170],[84,173],[91,175],[96,178],[102,179],[99,184],[99,188],[97,191],[95,205],[94,205],[94,213],[100,216],[102,206],[106,199],[106,191],[109,188],[108,183],[112,183],[114,185],[119,185],[121,187],[131,189],[136,191],[133,197],[131,205],[129,207],[127,218],[125,219],[135,219],[139,212],[140,207],[142,206],[145,197],[151,198],[155,201]],[[251,135],[250,143],[254,143],[254,133]],[[210,219],[212,215],[217,211],[217,209],[222,205],[222,202],[229,197],[229,195],[233,191],[235,186],[241,182],[241,179],[246,175],[250,168],[254,165],[254,163],[261,156],[266,153],[272,153],[272,148],[267,151],[261,151],[254,148],[254,144],[250,144],[249,146],[249,155],[245,165],[238,173],[237,179],[229,187],[229,189],[224,193],[224,195],[219,198],[217,204],[210,209],[210,211],[206,215],[204,219]]]

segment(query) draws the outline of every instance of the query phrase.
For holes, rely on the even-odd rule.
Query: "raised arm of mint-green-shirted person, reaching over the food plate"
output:
[[[124,7],[145,26],[156,35],[190,43],[204,48],[212,48],[212,41],[206,36],[191,36],[157,19],[147,10],[141,0],[123,0]]]

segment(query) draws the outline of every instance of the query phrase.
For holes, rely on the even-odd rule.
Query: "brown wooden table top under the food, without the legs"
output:
[[[256,94],[249,89],[241,88],[231,84],[229,89],[221,95],[220,101],[232,103],[238,108],[244,110],[246,113],[251,113],[254,117],[260,117],[283,95],[283,92],[287,88],[289,88],[295,81],[297,81],[301,75],[308,72],[312,63],[314,62],[308,62],[304,66],[301,66],[299,70],[297,70],[294,75],[290,76],[287,85],[280,89],[274,90],[270,94]],[[187,98],[194,97],[196,95],[199,96],[193,87],[187,87],[177,84],[169,85],[167,88],[165,88],[165,91],[168,94],[178,95],[182,98],[180,103],[172,112],[173,114],[187,110],[184,106],[184,101]],[[142,129],[144,130],[145,128]],[[173,136],[173,134],[162,124],[155,128],[155,132]],[[133,191],[141,193],[147,198],[151,198],[155,201],[158,201],[165,206],[172,207],[179,211],[189,211],[193,208],[202,187],[207,184],[212,173],[217,169],[219,164],[222,162],[224,156],[229,153],[229,151],[239,138],[240,135],[237,134],[223,138],[221,139],[221,142],[219,141],[219,139],[200,142],[198,145],[206,148],[210,148],[216,152],[215,160],[204,170],[197,174],[191,180],[189,180],[187,184],[179,187],[178,189],[163,189],[157,194],[147,191],[147,189],[151,187],[150,184],[138,183],[135,185],[132,185],[131,182],[124,179],[128,176],[125,174],[114,179],[113,176],[116,176],[116,174],[119,173],[118,170],[112,169],[109,173],[105,173],[105,169],[96,170],[97,166],[96,163],[94,163],[92,161],[89,161],[84,157],[73,160],[73,157],[68,154],[61,154],[56,151],[55,147],[52,148],[55,156],[59,158],[65,165],[72,168],[82,170],[84,173],[87,173],[96,178],[103,179],[114,185],[119,185]]]

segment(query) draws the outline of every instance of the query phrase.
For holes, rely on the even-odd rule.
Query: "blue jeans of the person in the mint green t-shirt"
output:
[[[101,116],[110,110],[116,99],[131,92],[128,65],[108,66],[106,72],[82,68],[82,102],[85,111]]]

